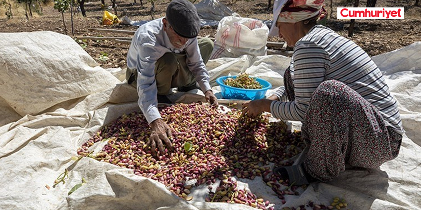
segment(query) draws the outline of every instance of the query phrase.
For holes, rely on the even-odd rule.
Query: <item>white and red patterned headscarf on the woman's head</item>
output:
[[[297,23],[317,17],[317,21],[326,16],[323,8],[324,0],[275,0],[273,2],[273,22],[269,36],[278,35],[276,22]]]

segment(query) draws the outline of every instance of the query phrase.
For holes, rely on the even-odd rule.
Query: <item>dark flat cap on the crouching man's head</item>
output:
[[[199,34],[200,19],[192,2],[172,0],[166,8],[165,16],[179,36],[192,39]]]

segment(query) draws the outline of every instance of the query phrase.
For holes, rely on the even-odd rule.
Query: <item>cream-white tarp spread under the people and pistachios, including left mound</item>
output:
[[[61,34],[0,33],[0,46],[1,210],[254,209],[206,203],[206,185],[194,188],[190,194],[194,199],[187,202],[132,170],[90,158],[75,164],[71,157],[100,126],[139,110],[135,89],[95,66],[76,42]],[[407,135],[399,156],[377,169],[347,170],[332,182],[311,184],[299,196],[286,196],[284,207],[309,200],[327,204],[339,196],[347,199],[347,209],[352,210],[420,209],[420,51],[418,42],[374,58],[403,115]],[[393,62],[387,65],[388,61]],[[207,66],[212,81],[220,75],[248,72],[278,86],[288,63],[289,58],[278,55],[242,56],[211,60]],[[65,168],[70,178],[52,188]],[[88,182],[68,196],[82,178]],[[240,181],[281,208],[260,178]]]

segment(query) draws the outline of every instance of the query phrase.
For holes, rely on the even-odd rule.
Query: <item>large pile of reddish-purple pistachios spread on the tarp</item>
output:
[[[147,146],[151,129],[145,117],[134,112],[102,127],[81,145],[78,154],[87,156],[89,147],[106,139],[107,144],[95,156],[96,160],[131,168],[134,174],[157,180],[186,200],[191,199],[187,195],[192,186],[185,186],[188,179],[196,178],[196,186],[211,185],[220,179],[219,187],[215,193],[210,192],[206,201],[240,202],[267,209],[269,201],[237,188],[236,181],[231,179],[237,175],[249,179],[263,176],[285,202],[285,192],[279,189],[289,183],[277,181],[279,178],[271,174],[268,164],[281,163],[301,151],[304,142],[299,131],[288,132],[283,122],[269,123],[267,115],[251,119],[242,116],[239,110],[222,113],[201,103],[175,104],[160,109],[160,114],[172,129],[173,152],[165,148],[163,154],[156,150],[157,156],[152,155]],[[186,151],[187,141],[191,145]],[[295,189],[291,187],[288,194],[294,195]]]

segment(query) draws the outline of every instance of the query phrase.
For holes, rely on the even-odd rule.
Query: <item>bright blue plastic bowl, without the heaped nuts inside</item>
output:
[[[272,87],[269,82],[256,78],[256,81],[262,84],[262,89],[244,89],[239,87],[231,87],[224,84],[227,78],[236,78],[237,76],[223,76],[216,79],[216,83],[221,86],[222,98],[225,99],[242,99],[242,100],[257,100],[264,98],[267,89]]]

